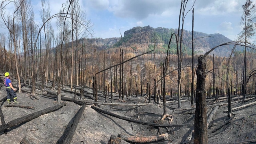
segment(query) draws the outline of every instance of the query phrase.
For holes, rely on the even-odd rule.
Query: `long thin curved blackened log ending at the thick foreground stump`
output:
[[[98,111],[98,112],[102,112],[103,114],[108,114],[110,116],[114,116],[116,118],[120,118],[122,120],[126,120],[128,122],[134,122],[137,124],[143,124],[143,125],[148,125],[148,126],[156,126],[156,127],[182,127],[182,126],[188,126],[188,125],[193,125],[194,123],[188,123],[188,124],[154,124],[154,123],[150,123],[150,122],[142,122],[140,120],[133,120],[131,118],[126,118],[123,116],[119,116],[117,114],[113,114],[112,112],[108,112],[106,110],[102,110],[100,108],[96,108],[95,106],[91,106],[91,108],[93,108],[94,110]]]

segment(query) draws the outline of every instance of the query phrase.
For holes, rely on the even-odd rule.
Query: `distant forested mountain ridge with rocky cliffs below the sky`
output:
[[[148,47],[154,44],[154,39],[158,38],[158,44],[160,44],[163,49],[167,49],[170,37],[173,33],[177,33],[178,29],[173,28],[152,28],[151,26],[138,26],[131,28],[124,32],[124,37],[122,38],[124,47],[129,46],[140,46],[148,45]],[[97,46],[99,50],[120,47],[122,45],[121,38],[93,38],[87,39],[91,44]],[[205,34],[203,32],[194,31],[194,50],[197,54],[204,54],[211,48],[224,44],[226,42],[231,42],[232,40],[226,38],[222,34]],[[184,30],[183,32],[183,42],[187,46],[188,54],[191,53],[191,43],[192,43],[192,32]],[[145,47],[145,46],[144,46]],[[221,46],[216,48],[211,54],[215,56],[229,56],[231,54],[233,45]],[[236,48],[237,50],[242,50],[241,47]],[[164,52],[164,51],[162,51]],[[174,52],[175,53],[175,52]]]

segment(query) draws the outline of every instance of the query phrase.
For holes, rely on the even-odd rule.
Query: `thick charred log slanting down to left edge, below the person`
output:
[[[8,124],[6,124],[6,126],[1,125],[0,126],[0,132],[2,132],[3,130],[6,130],[8,128],[11,128],[12,126],[16,126],[18,124],[21,124],[23,122],[28,122],[28,121],[30,121],[34,118],[37,118],[37,117],[39,117],[43,114],[47,114],[47,113],[52,112],[54,110],[58,110],[59,108],[61,108],[64,105],[66,105],[66,103],[64,103],[64,102],[61,103],[61,104],[56,104],[55,106],[52,106],[50,108],[46,108],[44,110],[40,110],[38,112],[34,112],[32,114],[28,114],[28,115],[23,116],[21,118],[17,118],[15,120],[12,120],[12,121],[8,122]]]

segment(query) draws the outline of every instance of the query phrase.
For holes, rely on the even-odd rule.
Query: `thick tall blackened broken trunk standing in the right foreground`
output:
[[[204,56],[198,57],[198,68],[196,70],[196,112],[195,112],[195,132],[194,144],[208,144],[207,137],[207,107],[206,107],[206,63]]]

